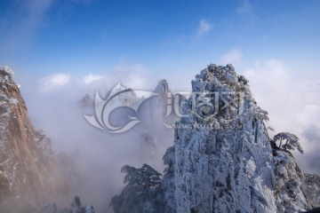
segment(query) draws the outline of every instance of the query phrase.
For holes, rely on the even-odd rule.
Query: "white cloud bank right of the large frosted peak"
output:
[[[298,155],[301,165],[307,166],[307,155],[314,147],[305,138],[305,131],[312,125],[320,128],[320,86],[316,81],[304,82],[292,76],[283,61],[269,59],[258,62],[244,71],[250,80],[253,97],[269,113],[270,125],[276,132],[289,131],[300,138],[305,150]],[[308,168],[303,168],[308,170]]]

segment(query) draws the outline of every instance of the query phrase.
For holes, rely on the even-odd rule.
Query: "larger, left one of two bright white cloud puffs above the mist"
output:
[[[71,75],[65,73],[49,75],[47,77],[44,77],[43,79],[40,79],[39,91],[46,92],[59,89],[68,84],[70,80]]]

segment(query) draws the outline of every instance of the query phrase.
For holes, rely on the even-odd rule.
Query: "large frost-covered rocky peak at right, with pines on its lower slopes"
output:
[[[110,205],[119,212],[300,212],[320,206],[318,176],[300,171],[291,149],[299,138],[269,138],[268,113],[234,67],[210,65],[192,81],[182,103],[164,177],[149,167],[124,166],[127,185]],[[276,145],[277,141],[279,145]],[[282,143],[284,142],[284,145]],[[307,184],[306,184],[307,183]],[[314,190],[307,195],[308,190]]]

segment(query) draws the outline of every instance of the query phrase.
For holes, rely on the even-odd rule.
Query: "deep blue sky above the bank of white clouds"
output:
[[[209,63],[241,72],[280,59],[294,75],[319,77],[316,0],[1,0],[0,10],[0,64],[18,74],[103,74],[127,63],[194,75]]]

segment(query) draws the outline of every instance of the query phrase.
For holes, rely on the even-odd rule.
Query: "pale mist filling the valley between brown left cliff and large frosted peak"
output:
[[[161,79],[150,80],[139,66],[132,66],[116,69],[108,75],[72,77],[60,73],[36,83],[26,83],[27,86],[20,82],[36,130],[44,130],[52,139],[54,152],[58,156],[65,154],[72,161],[68,167],[74,167],[68,171],[72,177],[60,180],[66,181],[61,185],[70,188],[67,193],[63,188],[63,193],[58,192],[55,202],[59,209],[68,208],[73,197],[78,195],[97,212],[112,212],[108,204],[124,187],[124,174],[120,172],[124,165],[140,168],[148,163],[163,173],[162,156],[173,144],[173,130],[164,128],[163,109],[156,106],[155,98],[140,106],[141,122],[120,134],[100,130],[85,121],[84,114],[94,114],[94,106],[86,106],[82,100],[87,95],[93,101],[96,91],[105,99],[116,83],[133,90],[155,91],[158,80]],[[111,114],[120,120],[127,115],[134,114],[126,111]]]

